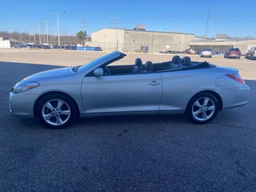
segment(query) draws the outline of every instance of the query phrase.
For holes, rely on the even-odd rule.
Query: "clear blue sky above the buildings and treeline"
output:
[[[34,28],[38,33],[36,26],[44,18],[48,19],[48,33],[57,34],[57,14],[49,11],[55,10],[62,11],[62,35],[74,35],[81,30],[82,18],[88,22],[88,34],[109,28],[115,18],[118,28],[132,29],[136,24],[145,24],[146,30],[177,30],[199,36],[205,34],[209,7],[208,37],[226,33],[256,38],[256,0],[0,0],[0,30],[32,33]]]

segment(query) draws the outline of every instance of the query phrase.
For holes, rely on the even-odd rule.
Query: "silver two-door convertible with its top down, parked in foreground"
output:
[[[203,124],[220,110],[248,102],[250,88],[234,68],[179,56],[113,65],[124,56],[115,51],[85,65],[28,76],[12,88],[10,112],[38,117],[50,128],[66,127],[77,117],[135,114],[185,113]]]

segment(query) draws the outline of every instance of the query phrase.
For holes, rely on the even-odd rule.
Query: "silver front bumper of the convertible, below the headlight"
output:
[[[34,103],[37,98],[37,94],[14,94],[10,92],[8,103],[9,110],[13,116],[34,118]]]

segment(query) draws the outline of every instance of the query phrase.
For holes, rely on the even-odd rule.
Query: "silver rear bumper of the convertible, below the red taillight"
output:
[[[216,92],[223,102],[222,110],[231,109],[247,104],[250,88],[247,85],[238,88],[219,89]]]

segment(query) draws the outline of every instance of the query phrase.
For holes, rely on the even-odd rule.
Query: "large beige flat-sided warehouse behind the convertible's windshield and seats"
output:
[[[102,51],[143,52],[188,49],[188,42],[194,34],[104,28],[92,32],[92,46]]]

